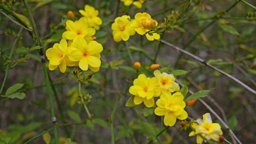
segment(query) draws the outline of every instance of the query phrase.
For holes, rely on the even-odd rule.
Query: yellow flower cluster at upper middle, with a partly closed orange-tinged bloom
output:
[[[115,18],[111,26],[115,42],[127,41],[135,32],[145,35],[149,41],[160,39],[160,35],[153,30],[158,23],[148,13],[139,12],[135,15],[135,19],[130,20],[130,16],[127,15]]]

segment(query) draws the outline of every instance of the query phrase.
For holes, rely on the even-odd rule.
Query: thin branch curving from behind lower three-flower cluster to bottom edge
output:
[[[177,80],[176,80],[177,81]],[[181,86],[184,86],[180,81],[177,81]],[[189,90],[190,94],[194,94],[192,90]],[[235,138],[238,144],[242,144],[242,142],[238,139],[238,137],[234,134],[234,132],[229,128],[229,126],[219,117],[219,115],[202,99],[198,99],[210,112],[220,121],[220,123],[229,131],[231,137]]]

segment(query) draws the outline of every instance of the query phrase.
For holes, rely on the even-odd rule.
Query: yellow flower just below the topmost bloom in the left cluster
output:
[[[66,21],[66,30],[62,37],[64,39],[73,40],[78,37],[82,38],[91,38],[95,34],[95,29],[88,27],[87,21],[85,18],[80,18],[73,22],[72,20]]]

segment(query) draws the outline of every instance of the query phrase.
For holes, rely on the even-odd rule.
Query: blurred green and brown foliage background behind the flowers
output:
[[[4,1],[9,9],[31,27],[22,0]],[[205,101],[229,124],[244,144],[256,143],[255,95],[219,72],[212,71],[165,45],[159,46],[158,41],[150,42],[145,37],[136,35],[127,43],[115,43],[111,34],[111,24],[116,16],[128,14],[134,18],[137,12],[145,11],[159,24],[165,22],[166,18],[173,23],[161,38],[207,60],[255,90],[256,9],[239,0],[192,0],[183,16],[177,19],[177,14],[183,12],[189,5],[189,0],[146,0],[141,9],[124,6],[119,0],[27,1],[33,10],[44,46],[34,45],[29,32],[21,31],[9,18],[0,15],[0,83],[5,71],[9,70],[1,95],[16,83],[24,83],[19,91],[26,93],[25,99],[0,98],[0,144],[5,144],[6,141],[9,144],[22,144],[52,127],[46,84],[36,50],[43,48],[45,51],[59,42],[65,30],[65,20],[70,19],[67,12],[73,11],[75,17],[72,20],[78,19],[81,17],[78,10],[83,9],[85,4],[98,9],[103,20],[101,29],[95,35],[104,47],[101,70],[97,73],[84,72],[85,78],[91,74],[92,78],[82,85],[82,93],[92,97],[88,108],[95,120],[86,120],[86,113],[77,103],[79,98],[73,69],[68,69],[64,74],[58,70],[49,72],[58,98],[54,99],[57,123],[86,121],[86,124],[67,126],[65,129],[59,127],[61,144],[68,137],[77,144],[110,143],[109,117],[116,101],[117,110],[112,121],[117,144],[145,144],[150,140],[160,144],[194,144],[194,137],[188,137],[189,132],[180,131],[178,123],[156,138],[165,126],[161,123],[161,118],[154,115],[154,109],[144,106],[125,107],[130,97],[128,88],[132,85],[131,82],[139,72],[152,76],[153,70],[149,67],[152,63],[159,63],[160,68],[168,67],[169,71],[189,71],[177,78],[190,90],[216,88],[209,96],[211,100]],[[239,2],[234,5],[237,1]],[[247,2],[256,5],[255,0]],[[227,9],[228,12],[225,12]],[[15,43],[10,58],[11,47]],[[133,68],[126,48],[131,51],[133,60],[142,64],[139,71]],[[209,112],[199,102],[187,110],[193,118]],[[64,121],[60,120],[61,117],[64,117]],[[218,122],[215,117],[213,121]],[[223,132],[231,141],[228,131],[223,128]],[[52,132],[49,134],[53,135]],[[31,144],[45,142],[40,136]]]

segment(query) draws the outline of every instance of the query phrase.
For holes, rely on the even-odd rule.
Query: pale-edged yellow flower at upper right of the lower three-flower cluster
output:
[[[155,70],[154,75],[162,91],[174,92],[180,90],[179,84],[175,82],[173,74],[168,74],[166,72],[161,73],[160,71]]]

